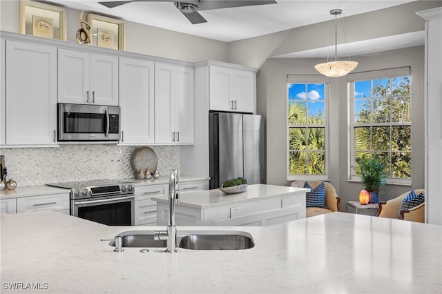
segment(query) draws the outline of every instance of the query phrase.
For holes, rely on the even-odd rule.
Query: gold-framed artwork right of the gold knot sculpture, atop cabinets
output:
[[[124,50],[124,21],[89,13],[90,45]]]

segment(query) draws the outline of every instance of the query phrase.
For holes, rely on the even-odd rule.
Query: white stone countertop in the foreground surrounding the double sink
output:
[[[177,228],[247,231],[255,246],[242,251],[114,253],[100,242],[158,229],[49,210],[1,215],[1,293],[442,292],[442,226],[329,213],[276,226]]]

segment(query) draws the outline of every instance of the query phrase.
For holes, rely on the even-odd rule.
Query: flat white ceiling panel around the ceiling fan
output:
[[[207,22],[193,25],[175,8],[173,1],[168,0],[136,1],[116,8],[106,8],[98,1],[93,0],[50,0],[52,3],[58,3],[68,8],[98,12],[127,21],[144,23],[148,26],[226,42],[329,21],[332,19],[329,10],[334,8],[343,10],[340,17],[348,17],[400,5],[412,0],[276,1],[278,3],[269,5],[200,11]]]

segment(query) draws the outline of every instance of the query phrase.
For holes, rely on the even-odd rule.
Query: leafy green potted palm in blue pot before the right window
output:
[[[378,158],[361,158],[358,161],[361,182],[369,193],[369,203],[379,202],[379,190],[385,186],[385,164]]]

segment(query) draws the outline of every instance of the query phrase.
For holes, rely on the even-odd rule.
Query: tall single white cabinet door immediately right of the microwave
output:
[[[119,58],[120,144],[153,144],[155,141],[154,63]]]

